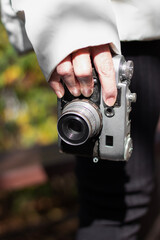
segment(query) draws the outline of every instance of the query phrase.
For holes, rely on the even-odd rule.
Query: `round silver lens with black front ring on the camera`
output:
[[[74,100],[67,104],[58,120],[60,138],[71,145],[81,145],[99,133],[101,114],[88,100]]]

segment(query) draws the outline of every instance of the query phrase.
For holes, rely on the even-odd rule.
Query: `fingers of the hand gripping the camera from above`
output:
[[[99,75],[102,86],[103,100],[108,106],[113,106],[117,97],[115,71],[109,45],[99,45],[77,50],[60,62],[49,80],[49,85],[56,95],[64,95],[65,83],[71,94],[75,97],[83,94],[89,97],[93,93],[92,64]]]

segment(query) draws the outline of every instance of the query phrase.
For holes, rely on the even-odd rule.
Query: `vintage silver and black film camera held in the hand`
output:
[[[131,102],[136,94],[129,90],[133,62],[122,55],[113,56],[117,100],[113,107],[102,99],[101,85],[93,68],[94,91],[89,98],[73,97],[65,89],[58,99],[59,148],[62,152],[106,160],[128,160],[133,146],[130,136]]]

